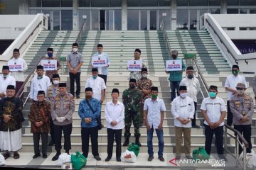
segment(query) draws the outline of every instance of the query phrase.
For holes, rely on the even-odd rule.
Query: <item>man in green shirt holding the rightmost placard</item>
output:
[[[171,102],[176,98],[175,90],[179,96],[178,89],[182,80],[183,71],[185,71],[185,64],[181,58],[178,58],[178,51],[171,51],[171,60],[166,61],[166,73],[170,73],[169,81],[171,86]]]

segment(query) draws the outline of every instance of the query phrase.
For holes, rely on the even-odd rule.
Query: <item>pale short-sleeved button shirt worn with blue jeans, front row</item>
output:
[[[157,129],[161,123],[161,111],[166,111],[166,107],[160,98],[156,98],[156,101],[147,98],[144,103],[144,111],[148,112],[147,119],[150,128]]]

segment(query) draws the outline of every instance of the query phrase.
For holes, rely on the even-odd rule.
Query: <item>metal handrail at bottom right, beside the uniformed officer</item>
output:
[[[234,128],[231,128],[229,125],[225,124],[225,137],[224,137],[224,145],[225,145],[225,154],[228,152],[232,157],[236,159],[235,166],[238,166],[238,163],[242,166],[242,168],[245,170],[246,169],[246,148],[249,147],[248,142],[245,140],[245,138],[241,135],[241,133],[238,130],[235,130]],[[235,135],[232,135],[228,132],[228,130],[231,130],[235,133]],[[235,140],[235,156],[227,149],[227,137],[228,135]],[[240,142],[242,140],[242,142]],[[239,146],[242,147],[242,154],[243,154],[243,159],[242,163],[239,161]]]

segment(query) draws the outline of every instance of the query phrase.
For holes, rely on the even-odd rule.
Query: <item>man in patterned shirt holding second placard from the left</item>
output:
[[[53,74],[58,74],[58,70],[60,69],[60,60],[58,60],[58,57],[53,56],[53,48],[51,47],[47,48],[47,56],[43,57],[43,60],[46,60],[46,64],[50,64],[50,67],[45,69],[46,76],[49,77],[50,81],[52,81]],[[43,67],[45,66],[43,65]]]

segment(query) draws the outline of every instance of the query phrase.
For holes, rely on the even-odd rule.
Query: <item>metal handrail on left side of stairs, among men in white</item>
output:
[[[36,61],[35,66],[33,67],[33,69],[31,70],[31,72],[28,74],[28,76],[26,77],[26,80],[23,82],[21,88],[18,90],[18,92],[16,93],[16,97],[21,97],[25,91],[25,89],[28,87],[29,83],[31,82],[31,79],[33,79],[34,74],[36,72],[36,67],[38,66],[38,64],[41,62],[42,57],[39,57],[38,60]],[[29,92],[30,94],[31,92]],[[29,94],[26,98],[26,100],[23,103],[23,106],[25,106],[26,102],[28,101],[29,98]]]

